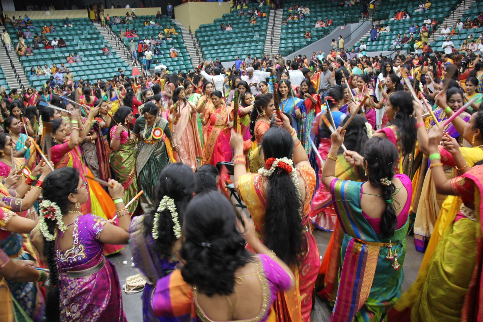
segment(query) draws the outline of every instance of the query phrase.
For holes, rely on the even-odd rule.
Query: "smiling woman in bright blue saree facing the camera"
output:
[[[307,109],[305,108],[304,100],[295,97],[291,86],[289,80],[282,79],[278,82],[279,107],[282,112],[290,114],[294,118],[292,127],[297,132],[297,136],[305,148],[306,144],[310,145],[309,142],[305,142]]]

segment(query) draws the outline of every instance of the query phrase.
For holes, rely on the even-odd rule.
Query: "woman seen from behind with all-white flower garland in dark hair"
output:
[[[183,226],[185,209],[195,190],[195,176],[187,165],[171,163],[161,171],[157,187],[158,208],[134,217],[129,234],[134,264],[148,278],[142,292],[144,322],[176,321],[171,318],[156,318],[151,307],[151,298],[156,282],[169,275],[180,260],[181,233],[174,228]],[[173,211],[177,218],[172,217]]]

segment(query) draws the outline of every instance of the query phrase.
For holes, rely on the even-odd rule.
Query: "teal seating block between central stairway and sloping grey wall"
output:
[[[283,15],[286,18],[289,14],[288,8],[293,5],[290,1],[288,2],[284,5]],[[282,26],[279,49],[282,55],[288,55],[324,38],[335,29],[335,26],[358,22],[362,11],[362,6],[345,6],[341,8],[330,0],[297,1],[297,4],[302,7],[307,6],[310,9],[310,15],[305,15],[305,19],[302,20],[288,20],[287,25]],[[295,10],[293,15],[295,15]],[[333,26],[315,28],[315,23],[319,18],[323,20],[331,18]],[[305,39],[306,30],[311,32],[312,39]]]

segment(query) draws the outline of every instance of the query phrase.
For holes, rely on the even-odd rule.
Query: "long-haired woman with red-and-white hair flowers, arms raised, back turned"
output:
[[[277,321],[308,321],[320,265],[319,250],[309,223],[315,172],[289,118],[282,114],[282,119],[283,123],[276,120],[276,125],[284,128],[270,128],[263,135],[265,166],[258,174],[246,173],[241,136],[232,132],[233,183],[255,221],[257,238],[296,277],[295,287],[281,293],[274,303]]]

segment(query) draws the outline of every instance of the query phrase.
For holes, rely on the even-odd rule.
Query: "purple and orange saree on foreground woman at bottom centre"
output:
[[[258,281],[262,286],[262,305],[260,312],[244,322],[276,322],[275,306],[280,294],[291,286],[288,274],[270,257],[254,255]],[[161,278],[156,283],[156,290],[151,298],[153,311],[158,317],[176,317],[175,321],[211,322],[199,307],[197,288],[191,288],[181,276],[181,270]],[[294,320],[301,321],[301,320]]]

